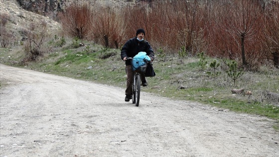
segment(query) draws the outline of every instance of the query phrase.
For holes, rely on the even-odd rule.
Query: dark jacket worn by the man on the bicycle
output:
[[[121,49],[121,59],[124,57],[135,57],[139,52],[146,54],[154,59],[154,52],[148,41],[139,41],[137,37],[129,39]],[[131,65],[130,60],[126,60],[126,65]]]

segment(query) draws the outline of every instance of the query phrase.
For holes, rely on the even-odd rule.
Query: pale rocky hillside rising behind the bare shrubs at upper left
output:
[[[8,19],[7,29],[12,32],[12,39],[20,41],[26,38],[24,30],[31,22],[40,23],[45,21],[51,32],[58,32],[61,24],[54,19],[57,12],[65,9],[74,0],[0,0],[0,14]],[[79,0],[85,1],[95,7],[96,5],[110,7],[125,7],[134,5],[140,0]],[[23,38],[23,39],[22,39]]]

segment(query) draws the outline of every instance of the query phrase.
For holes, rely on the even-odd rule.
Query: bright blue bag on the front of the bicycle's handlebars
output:
[[[150,61],[150,57],[146,55],[146,52],[139,52],[133,59],[133,70],[138,70],[140,66],[146,65],[147,61]]]

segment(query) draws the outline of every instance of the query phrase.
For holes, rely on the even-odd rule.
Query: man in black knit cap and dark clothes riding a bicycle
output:
[[[121,59],[126,61],[126,97],[125,101],[129,102],[132,99],[132,85],[133,85],[133,76],[134,71],[132,69],[131,61],[128,60],[129,57],[136,56],[139,52],[146,52],[146,54],[150,57],[151,61],[154,59],[154,51],[151,48],[148,41],[144,40],[145,31],[144,29],[140,28],[137,30],[136,37],[129,39],[121,50]],[[141,74],[141,83],[143,87],[147,86],[147,82],[145,79],[144,74]]]

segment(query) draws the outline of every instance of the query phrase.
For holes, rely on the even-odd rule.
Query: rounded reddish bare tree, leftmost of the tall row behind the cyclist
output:
[[[59,13],[64,31],[73,37],[79,39],[89,35],[92,26],[92,9],[90,4],[83,2],[72,3],[65,9],[65,12]]]

